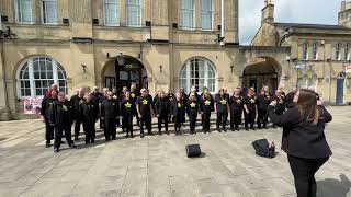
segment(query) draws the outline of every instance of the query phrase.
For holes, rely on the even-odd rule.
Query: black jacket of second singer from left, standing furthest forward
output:
[[[72,107],[66,100],[65,102],[54,102],[48,109],[48,123],[50,126],[67,128],[73,123]]]

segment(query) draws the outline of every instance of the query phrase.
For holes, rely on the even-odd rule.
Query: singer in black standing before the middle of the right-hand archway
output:
[[[259,129],[267,129],[268,116],[267,116],[267,107],[271,103],[271,97],[267,95],[268,93],[262,89],[261,93],[257,96],[258,102],[258,117],[257,117],[257,126]]]

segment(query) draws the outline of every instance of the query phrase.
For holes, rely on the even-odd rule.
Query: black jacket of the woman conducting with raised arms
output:
[[[273,124],[283,127],[282,150],[298,158],[316,159],[331,155],[326,141],[325,126],[332,117],[320,106],[321,115],[318,124],[302,120],[297,107],[276,115],[276,107],[269,106],[268,115]],[[306,118],[305,118],[306,119]]]

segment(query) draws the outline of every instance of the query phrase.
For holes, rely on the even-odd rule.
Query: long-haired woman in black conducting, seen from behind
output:
[[[287,153],[297,197],[316,197],[315,173],[332,154],[324,131],[332,117],[312,90],[299,90],[294,102],[293,108],[278,115],[274,100],[268,113],[272,123],[283,127],[282,150]]]

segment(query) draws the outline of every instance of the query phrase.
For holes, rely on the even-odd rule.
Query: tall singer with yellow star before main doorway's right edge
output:
[[[151,132],[151,124],[152,124],[152,97],[148,94],[146,89],[140,90],[141,96],[139,96],[136,101],[136,109],[138,116],[140,118],[140,138],[144,138],[144,125],[148,131],[148,135],[152,135]]]

